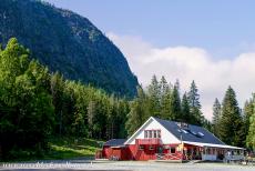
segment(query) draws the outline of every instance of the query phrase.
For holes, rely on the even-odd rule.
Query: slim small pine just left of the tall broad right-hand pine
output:
[[[213,104],[213,123],[212,123],[213,132],[216,137],[220,135],[218,125],[220,125],[220,120],[221,120],[221,113],[222,113],[222,105],[216,98]]]

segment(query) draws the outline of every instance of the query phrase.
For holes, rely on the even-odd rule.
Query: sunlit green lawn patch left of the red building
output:
[[[94,157],[103,141],[91,139],[54,138],[50,141],[50,151],[43,159],[70,159],[80,157]]]

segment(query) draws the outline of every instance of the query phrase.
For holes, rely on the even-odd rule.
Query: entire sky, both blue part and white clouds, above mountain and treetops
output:
[[[255,92],[254,0],[47,0],[91,20],[123,52],[143,86],[195,80],[202,110],[232,86],[239,107]]]

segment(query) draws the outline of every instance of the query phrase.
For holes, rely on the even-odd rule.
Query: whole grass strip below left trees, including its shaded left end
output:
[[[93,158],[95,151],[101,149],[103,141],[85,138],[51,138],[47,151],[12,150],[12,158],[8,162],[59,160],[74,158]],[[1,161],[0,161],[1,162]]]

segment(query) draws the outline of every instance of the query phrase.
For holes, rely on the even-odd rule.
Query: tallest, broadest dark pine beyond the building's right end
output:
[[[243,120],[236,100],[235,91],[228,87],[223,104],[220,121],[220,138],[227,144],[243,147],[245,139],[243,132]]]

